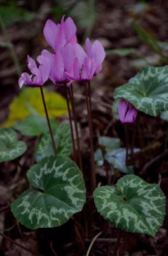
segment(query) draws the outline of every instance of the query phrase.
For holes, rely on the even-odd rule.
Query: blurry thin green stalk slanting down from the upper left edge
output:
[[[3,31],[4,39],[5,39],[6,43],[8,44],[8,48],[10,49],[11,58],[12,58],[13,63],[15,64],[15,67],[17,69],[18,76],[20,76],[20,74],[22,72],[21,67],[20,67],[20,63],[19,63],[17,54],[15,52],[15,49],[13,47],[13,44],[11,44],[10,38],[8,37],[8,33],[6,31],[6,28],[5,28],[5,25],[4,25],[4,21],[3,21],[2,17],[1,17],[1,15],[0,15],[0,27],[1,27],[2,31]]]

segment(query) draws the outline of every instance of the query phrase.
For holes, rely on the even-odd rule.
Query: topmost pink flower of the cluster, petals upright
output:
[[[55,24],[52,20],[47,20],[43,34],[46,42],[48,42],[55,52],[66,44],[75,45],[77,42],[76,26],[70,17],[64,21],[63,16],[60,24]]]

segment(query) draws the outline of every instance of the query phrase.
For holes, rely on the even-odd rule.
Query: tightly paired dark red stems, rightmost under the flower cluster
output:
[[[88,128],[89,128],[89,134],[90,134],[90,160],[91,160],[92,191],[94,191],[95,186],[96,186],[96,179],[95,179],[95,163],[94,163],[94,144],[93,144],[93,133],[92,133],[92,113],[91,113],[92,102],[91,102],[91,96],[88,95],[89,89],[88,89],[87,83],[84,82],[84,85],[85,85],[85,95],[86,95],[86,102],[87,102]]]

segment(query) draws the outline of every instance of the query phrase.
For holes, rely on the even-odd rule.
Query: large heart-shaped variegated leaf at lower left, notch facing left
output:
[[[83,208],[85,184],[69,158],[46,157],[32,166],[27,177],[32,187],[11,204],[13,215],[25,227],[58,227]]]

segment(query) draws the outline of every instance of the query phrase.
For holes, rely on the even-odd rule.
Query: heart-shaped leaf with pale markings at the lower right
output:
[[[102,186],[94,191],[97,211],[116,228],[155,236],[165,214],[165,196],[157,184],[136,175],[125,175],[116,188]]]

